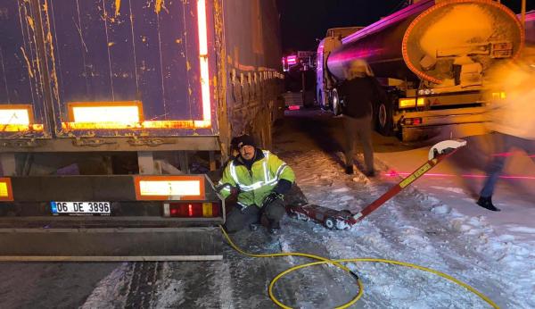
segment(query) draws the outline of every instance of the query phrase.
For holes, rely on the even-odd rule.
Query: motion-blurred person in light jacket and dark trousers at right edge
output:
[[[505,100],[490,106],[490,129],[494,154],[503,154],[518,148],[535,154],[535,47],[526,47],[523,57],[508,63],[494,74]],[[535,163],[535,158],[531,157]],[[481,188],[477,205],[499,212],[492,204],[494,186],[506,163],[505,155],[493,155],[487,167],[487,180]]]

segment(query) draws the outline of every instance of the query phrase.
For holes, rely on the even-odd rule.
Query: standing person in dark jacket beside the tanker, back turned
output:
[[[374,147],[372,145],[372,106],[388,99],[364,60],[350,63],[345,79],[338,88],[345,103],[343,128],[345,133],[346,174],[353,173],[353,149],[358,138],[364,148],[366,176],[374,177]]]

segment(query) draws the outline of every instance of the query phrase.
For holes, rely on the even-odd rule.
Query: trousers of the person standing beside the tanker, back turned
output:
[[[372,117],[362,118],[343,117],[343,129],[345,133],[346,166],[353,166],[353,151],[357,138],[364,150],[364,162],[366,171],[374,171],[374,146],[372,144]]]

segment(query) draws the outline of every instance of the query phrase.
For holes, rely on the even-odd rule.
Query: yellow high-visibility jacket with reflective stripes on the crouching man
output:
[[[281,179],[293,182],[295,174],[292,168],[279,159],[276,154],[257,148],[251,171],[238,157],[226,165],[219,185],[230,184],[239,188],[240,194],[237,201],[239,205],[261,207],[264,197],[275,188],[278,180]],[[226,198],[230,196],[230,188],[225,187],[221,189],[220,193]]]

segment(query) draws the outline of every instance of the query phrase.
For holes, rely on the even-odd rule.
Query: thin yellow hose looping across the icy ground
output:
[[[223,235],[225,235],[225,238],[228,241],[229,245],[232,246],[237,252],[241,253],[242,255],[248,255],[248,256],[251,256],[251,257],[303,256],[303,257],[308,257],[308,258],[311,258],[311,259],[318,260],[317,262],[300,264],[300,265],[294,266],[292,268],[289,268],[289,269],[277,274],[276,277],[273,280],[271,280],[271,282],[269,283],[269,288],[268,288],[269,298],[271,298],[271,300],[276,305],[279,305],[280,307],[282,307],[284,309],[291,309],[292,307],[290,307],[288,305],[284,305],[278,299],[276,299],[276,296],[273,294],[273,287],[275,286],[276,281],[281,279],[282,277],[284,277],[284,275],[286,275],[286,274],[288,274],[288,273],[290,273],[292,271],[297,271],[297,270],[299,270],[301,268],[305,268],[305,267],[309,267],[309,266],[313,266],[313,265],[325,264],[325,263],[333,264],[336,267],[341,268],[344,271],[348,271],[355,279],[357,279],[357,283],[358,283],[358,294],[357,294],[357,296],[353,297],[349,302],[347,302],[347,303],[345,303],[343,305],[337,306],[335,308],[336,309],[347,308],[350,305],[353,305],[353,304],[357,303],[358,299],[364,293],[364,287],[363,287],[362,281],[358,278],[358,275],[355,272],[351,271],[346,266],[341,264],[341,263],[350,263],[350,262],[390,263],[390,264],[394,264],[394,265],[400,265],[400,266],[414,268],[414,269],[417,269],[417,270],[420,270],[420,271],[431,272],[431,273],[434,273],[435,275],[438,275],[438,276],[440,276],[442,278],[450,280],[450,281],[456,283],[457,285],[459,285],[461,287],[464,287],[464,288],[468,289],[470,292],[472,292],[476,296],[479,296],[483,301],[485,301],[487,304],[489,304],[493,308],[499,309],[498,305],[496,305],[492,300],[490,300],[490,298],[488,296],[483,295],[477,289],[472,288],[471,286],[469,286],[465,282],[463,282],[461,280],[457,280],[457,279],[449,276],[448,274],[446,274],[444,272],[435,271],[435,270],[432,270],[431,268],[419,266],[419,265],[416,265],[416,264],[413,264],[413,263],[405,263],[405,262],[399,262],[399,261],[395,261],[395,260],[378,259],[378,258],[353,258],[353,259],[331,260],[331,259],[325,258],[323,256],[309,255],[309,254],[303,254],[303,253],[299,253],[299,252],[255,255],[255,254],[247,253],[247,252],[243,251],[242,249],[240,249],[238,246],[235,245],[235,243],[232,241],[232,239],[230,239],[228,234],[226,234],[226,231],[223,229],[223,227],[219,226],[219,228],[221,228],[221,231],[223,232]]]

